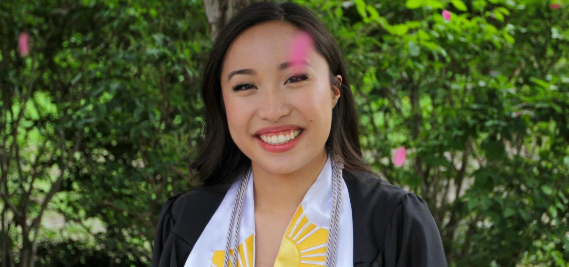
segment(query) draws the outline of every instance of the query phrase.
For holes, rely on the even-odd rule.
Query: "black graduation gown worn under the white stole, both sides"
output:
[[[423,199],[368,173],[344,169],[343,177],[352,206],[353,266],[447,266],[439,230]],[[184,266],[225,193],[197,189],[168,199],[152,267]]]

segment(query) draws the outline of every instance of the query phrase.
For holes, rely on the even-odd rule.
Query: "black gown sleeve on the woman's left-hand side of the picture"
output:
[[[179,266],[185,262],[184,256],[189,255],[191,246],[178,236],[172,234],[175,218],[172,215],[172,206],[181,193],[169,198],[160,212],[160,219],[154,237],[152,249],[152,267]]]

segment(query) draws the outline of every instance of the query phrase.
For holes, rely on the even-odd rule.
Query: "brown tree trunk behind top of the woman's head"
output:
[[[215,40],[217,33],[239,10],[255,0],[204,0],[205,16],[209,24],[209,33]]]

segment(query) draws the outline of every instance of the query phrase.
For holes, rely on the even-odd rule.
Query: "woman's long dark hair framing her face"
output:
[[[366,172],[377,176],[362,158],[358,115],[340,50],[332,34],[310,10],[296,3],[255,2],[234,15],[218,33],[205,66],[201,94],[205,105],[203,142],[191,168],[200,173],[203,186],[226,190],[251,165],[251,160],[233,142],[221,94],[221,68],[233,40],[248,28],[279,20],[308,32],[316,51],[326,59],[331,70],[333,86],[339,86],[341,97],[332,109],[332,126],[325,148],[339,155],[344,168],[351,172]],[[335,76],[342,76],[341,85]]]

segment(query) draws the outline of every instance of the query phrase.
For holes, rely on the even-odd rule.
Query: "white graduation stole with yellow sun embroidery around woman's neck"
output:
[[[244,197],[237,248],[237,266],[253,267],[255,259],[255,210],[253,203],[253,172]],[[342,179],[343,180],[343,179]],[[223,267],[225,242],[229,230],[229,220],[233,201],[241,182],[229,188],[221,205],[204,228],[192,248],[184,267],[216,266]],[[343,201],[340,211],[339,240],[337,247],[337,266],[353,265],[353,226],[352,206],[348,187],[343,185]],[[275,261],[275,267],[324,266],[330,216],[332,214],[332,163],[330,155],[320,171],[318,178],[308,189],[300,202],[295,215],[288,224]],[[182,223],[182,222],[179,222]],[[233,255],[234,249],[230,251]],[[229,266],[233,267],[231,260]]]

